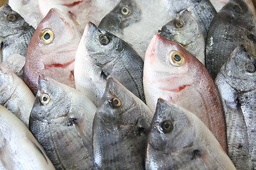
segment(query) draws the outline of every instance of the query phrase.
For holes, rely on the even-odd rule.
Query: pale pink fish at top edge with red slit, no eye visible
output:
[[[73,18],[82,33],[88,21],[97,25],[118,2],[119,0],[38,0],[38,5],[43,17],[50,8],[58,8],[65,16]]]

